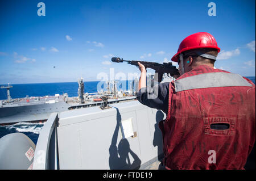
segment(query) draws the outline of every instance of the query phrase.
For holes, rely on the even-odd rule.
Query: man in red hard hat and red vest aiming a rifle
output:
[[[218,52],[207,32],[186,37],[171,58],[180,76],[155,86],[156,98],[149,96],[139,64],[137,99],[167,115],[159,123],[165,169],[244,169],[255,142],[255,85],[215,69]]]

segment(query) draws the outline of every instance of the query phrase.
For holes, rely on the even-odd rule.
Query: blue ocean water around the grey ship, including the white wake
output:
[[[247,77],[255,84],[255,77]],[[106,85],[98,85],[97,82],[85,82],[85,92],[97,92],[97,86],[105,90]],[[2,86],[2,85],[0,85]],[[16,84],[12,85],[10,95],[12,98],[24,98],[28,96],[44,96],[55,95],[67,92],[69,97],[77,96],[78,83],[77,82],[61,82],[61,83],[32,83],[32,84]],[[130,89],[130,81],[121,81],[117,85],[118,90]],[[127,89],[126,89],[127,88]],[[7,99],[6,90],[0,90],[0,100]],[[0,125],[0,138],[10,133],[24,133],[36,145],[38,136],[45,123],[16,123],[13,125]]]

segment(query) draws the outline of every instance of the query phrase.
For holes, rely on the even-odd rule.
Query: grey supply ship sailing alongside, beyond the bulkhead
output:
[[[106,82],[106,91],[95,93],[84,93],[84,81],[79,81],[77,97],[68,97],[68,94],[55,94],[55,96],[26,97],[11,99],[10,88],[12,86],[1,86],[7,90],[7,100],[0,100],[0,124],[13,124],[24,121],[45,121],[53,112],[62,112],[77,108],[92,106],[103,106],[102,96],[108,96],[108,102],[118,103],[127,100],[134,100],[135,85],[137,81],[131,82],[130,90],[118,91],[117,81]]]

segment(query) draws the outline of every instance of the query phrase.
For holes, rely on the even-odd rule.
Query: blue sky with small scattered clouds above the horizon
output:
[[[46,16],[38,16],[39,2]],[[209,2],[216,16],[208,15]],[[196,32],[216,38],[216,68],[255,76],[255,1],[0,3],[0,84],[100,81],[97,75],[110,68],[139,73],[111,57],[167,62]]]

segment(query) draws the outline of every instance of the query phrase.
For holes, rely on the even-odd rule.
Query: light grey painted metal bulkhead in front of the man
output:
[[[158,123],[166,115],[137,100],[111,107],[52,114],[39,135],[34,169],[143,169],[160,159],[163,145]],[[129,119],[137,136],[122,139],[120,122]],[[42,150],[47,153],[44,165],[36,163]]]

